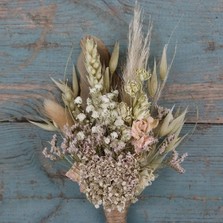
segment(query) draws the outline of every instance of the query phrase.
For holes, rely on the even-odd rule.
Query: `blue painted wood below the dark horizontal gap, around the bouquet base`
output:
[[[187,125],[184,132],[192,128]],[[128,222],[222,222],[222,130],[222,126],[199,125],[181,146],[189,153],[186,173],[160,171],[130,208]],[[41,154],[50,133],[18,123],[2,125],[0,135],[1,223],[104,222],[102,210],[64,177],[66,166],[54,165]]]

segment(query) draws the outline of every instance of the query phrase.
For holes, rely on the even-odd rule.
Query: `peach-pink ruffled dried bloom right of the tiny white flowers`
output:
[[[145,147],[153,144],[155,138],[149,136],[152,129],[156,128],[159,121],[149,117],[146,120],[134,121],[132,124],[131,134],[134,138],[132,144],[135,147],[136,153],[140,153]]]

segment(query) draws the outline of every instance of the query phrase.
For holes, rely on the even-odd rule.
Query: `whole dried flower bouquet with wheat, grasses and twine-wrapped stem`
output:
[[[127,208],[157,177],[157,171],[170,166],[183,173],[177,146],[186,110],[174,113],[157,104],[171,65],[167,45],[157,65],[148,67],[151,29],[142,33],[141,9],[135,7],[129,26],[127,61],[116,71],[119,44],[110,55],[96,37],[81,40],[82,52],[73,68],[72,87],[54,81],[62,92],[64,106],[44,101],[45,124],[37,126],[60,131],[43,154],[51,160],[66,159],[71,167],[66,176],[80,185],[81,192],[98,208],[105,210],[107,222],[126,222]]]

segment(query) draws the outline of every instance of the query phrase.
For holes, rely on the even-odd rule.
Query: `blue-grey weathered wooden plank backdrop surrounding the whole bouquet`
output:
[[[139,201],[129,223],[223,222],[223,2],[222,0],[139,0],[144,24],[153,20],[151,61],[172,35],[177,42],[162,104],[189,105],[181,146],[188,151],[187,172],[160,171]],[[104,222],[64,177],[64,164],[41,154],[51,134],[27,122],[38,120],[44,97],[55,97],[50,77],[63,78],[87,34],[111,49],[120,41],[124,57],[132,0],[0,0],[0,223]],[[123,60],[124,62],[124,60]],[[122,63],[123,63],[122,62]],[[67,77],[70,77],[71,64]],[[199,110],[197,117],[196,110]]]

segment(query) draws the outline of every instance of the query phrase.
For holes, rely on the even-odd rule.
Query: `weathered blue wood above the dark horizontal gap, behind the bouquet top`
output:
[[[177,55],[163,97],[165,104],[189,104],[190,122],[196,121],[198,107],[200,123],[222,123],[222,1],[139,2],[145,29],[150,16],[153,20],[151,62],[160,57],[175,30],[169,60],[176,42]],[[55,94],[50,77],[63,78],[72,43],[75,63],[84,35],[98,36],[110,49],[119,40],[125,55],[134,1],[17,0],[0,4],[0,120],[37,119],[33,105]],[[71,66],[68,77],[70,71]]]

